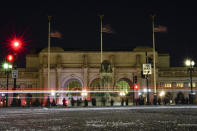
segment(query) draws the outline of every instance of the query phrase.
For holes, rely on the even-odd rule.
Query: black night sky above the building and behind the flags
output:
[[[165,3],[163,3],[165,2]],[[48,19],[52,15],[52,29],[62,33],[52,40],[52,46],[65,50],[99,50],[99,13],[104,13],[104,24],[110,24],[115,34],[104,34],[104,50],[132,50],[136,46],[152,47],[152,20],[167,26],[167,33],[156,34],[156,49],[170,53],[172,66],[183,66],[186,57],[196,62],[197,19],[194,3],[132,0],[33,3],[2,3],[0,12],[1,59],[8,52],[6,41],[16,34],[25,39],[25,50],[47,47]]]

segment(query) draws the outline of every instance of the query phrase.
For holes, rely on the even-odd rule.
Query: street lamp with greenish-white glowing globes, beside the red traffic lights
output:
[[[8,80],[9,80],[9,72],[12,69],[12,65],[9,63],[3,63],[3,69],[5,70],[6,73],[6,80],[7,80],[7,94],[6,94],[6,107],[8,107]]]

